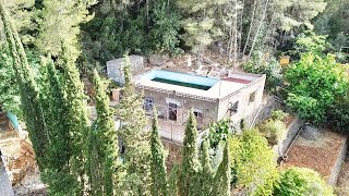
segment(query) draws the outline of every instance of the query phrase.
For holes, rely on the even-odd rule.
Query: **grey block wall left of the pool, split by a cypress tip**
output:
[[[107,62],[107,75],[115,82],[123,85],[124,77],[122,72],[123,58],[115,59]],[[144,58],[141,56],[130,56],[132,74],[141,73],[144,69]]]

